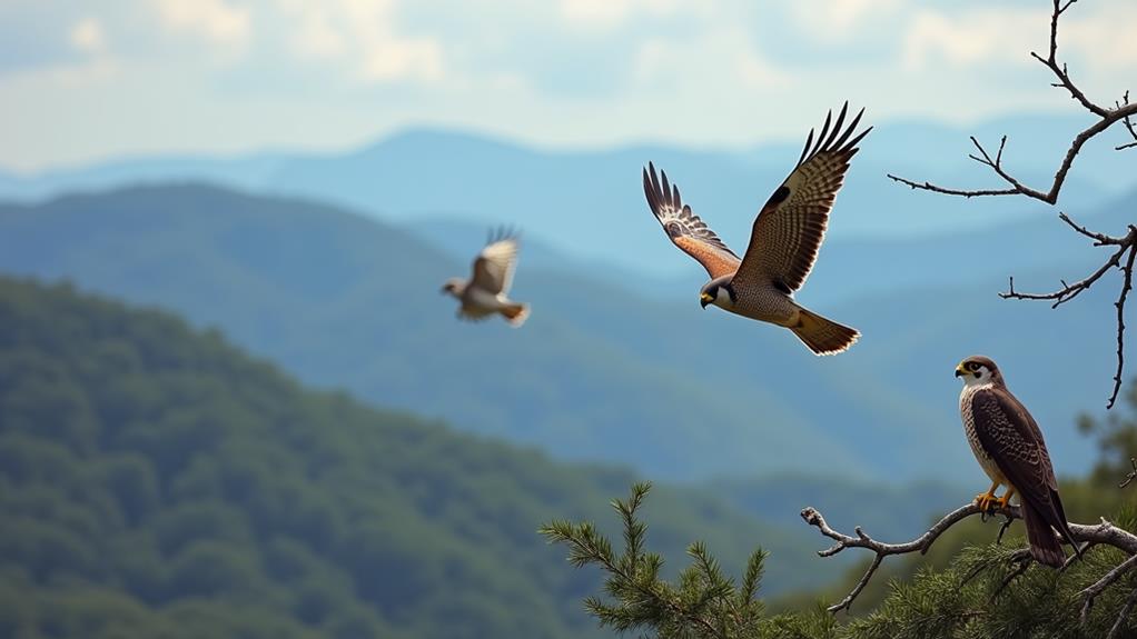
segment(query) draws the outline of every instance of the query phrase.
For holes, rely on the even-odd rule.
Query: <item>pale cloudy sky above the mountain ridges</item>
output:
[[[974,123],[1077,109],[1032,60],[1044,0],[0,0],[0,167],[339,151],[410,127],[545,148],[798,140],[844,100]],[[1137,92],[1132,0],[1060,54]],[[1088,121],[1087,121],[1088,124]]]

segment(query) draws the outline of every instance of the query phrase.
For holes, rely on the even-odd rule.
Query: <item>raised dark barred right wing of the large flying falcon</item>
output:
[[[849,160],[857,152],[856,144],[872,131],[869,127],[853,137],[864,113],[861,109],[843,132],[846,111],[848,102],[841,107],[836,123],[832,123],[833,112],[829,111],[816,142],[813,129],[810,129],[794,171],[774,191],[754,220],[750,245],[738,267],[739,280],[773,281],[787,293],[805,284],[825,237],[829,210],[849,168]],[[830,124],[833,124],[831,131]]]

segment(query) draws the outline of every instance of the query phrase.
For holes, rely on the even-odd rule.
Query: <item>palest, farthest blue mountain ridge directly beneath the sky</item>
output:
[[[1052,178],[1071,136],[1085,127],[1077,116],[1021,117],[974,127],[874,124],[838,200],[830,230],[835,239],[982,228],[1046,210],[1020,199],[963,202],[912,192],[885,175],[961,186],[996,184],[968,159],[973,151],[968,135],[997,144],[1007,133],[1007,166],[1028,183],[1041,185]],[[0,179],[0,196],[27,200],[136,182],[209,180],[263,194],[313,197],[389,220],[446,216],[481,226],[516,224],[531,239],[570,255],[675,275],[682,267],[644,203],[640,167],[650,160],[667,170],[696,212],[741,251],[757,207],[792,167],[805,133],[788,132],[782,142],[735,150],[632,145],[564,151],[463,132],[410,131],[345,153],[138,159],[9,176]],[[1094,205],[1131,187],[1134,162],[1131,155],[1095,141],[1070,175],[1063,205]]]

